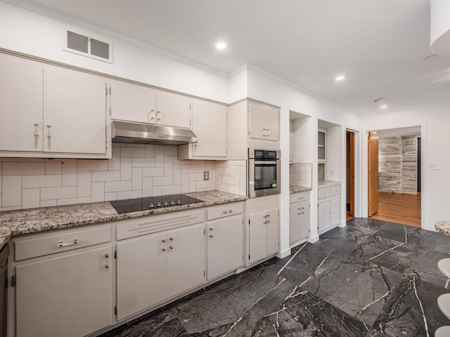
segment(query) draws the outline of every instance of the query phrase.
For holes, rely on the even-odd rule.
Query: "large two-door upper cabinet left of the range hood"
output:
[[[106,158],[101,77],[0,55],[0,154]]]

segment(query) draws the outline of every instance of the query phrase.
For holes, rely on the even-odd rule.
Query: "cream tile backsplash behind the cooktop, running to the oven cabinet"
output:
[[[246,195],[245,182],[245,160],[178,160],[176,146],[114,144],[112,159],[0,158],[0,211],[206,190]]]

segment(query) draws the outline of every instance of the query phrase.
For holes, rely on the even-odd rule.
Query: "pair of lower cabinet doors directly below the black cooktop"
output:
[[[203,282],[203,223],[117,244],[117,320]]]

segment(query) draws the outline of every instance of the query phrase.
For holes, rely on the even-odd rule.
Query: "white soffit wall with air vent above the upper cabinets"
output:
[[[65,20],[69,22],[68,18]],[[228,103],[226,74],[200,69],[200,65],[193,67],[188,60],[171,57],[139,41],[84,22],[73,22],[68,24],[0,1],[0,48]],[[114,64],[63,51],[67,29],[75,32],[84,29],[100,39],[113,40]]]

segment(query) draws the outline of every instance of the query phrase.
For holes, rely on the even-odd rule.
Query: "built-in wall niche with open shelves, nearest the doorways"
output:
[[[319,119],[317,122],[317,180],[342,180],[342,126]]]

